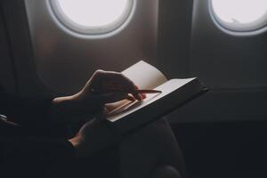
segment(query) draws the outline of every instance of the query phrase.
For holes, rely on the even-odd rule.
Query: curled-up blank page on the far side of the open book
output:
[[[130,78],[140,89],[153,89],[164,84],[166,77],[155,67],[145,61],[139,61],[122,72]]]

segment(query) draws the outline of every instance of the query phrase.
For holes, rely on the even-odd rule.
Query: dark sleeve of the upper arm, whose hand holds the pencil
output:
[[[12,122],[24,124],[45,123],[47,110],[49,109],[52,98],[20,98],[5,93],[0,88],[0,114],[8,117]]]

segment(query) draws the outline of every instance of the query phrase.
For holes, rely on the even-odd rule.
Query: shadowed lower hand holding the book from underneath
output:
[[[69,139],[76,150],[77,158],[85,158],[97,150],[105,149],[120,141],[120,136],[114,134],[104,120],[88,121],[78,134]]]

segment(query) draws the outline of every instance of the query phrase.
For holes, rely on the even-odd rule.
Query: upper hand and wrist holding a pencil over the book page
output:
[[[103,112],[106,103],[144,99],[145,94],[134,93],[136,89],[134,82],[121,73],[97,70],[79,93],[55,98],[50,117],[55,121],[64,118],[65,122],[94,117]]]

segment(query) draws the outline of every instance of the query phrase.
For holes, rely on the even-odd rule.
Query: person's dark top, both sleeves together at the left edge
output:
[[[47,123],[51,101],[21,99],[0,89],[0,114],[18,124],[0,120],[1,177],[42,174],[52,163],[74,157],[74,148],[67,139],[36,137],[31,129],[38,130],[39,125]]]

